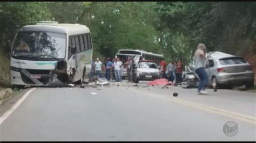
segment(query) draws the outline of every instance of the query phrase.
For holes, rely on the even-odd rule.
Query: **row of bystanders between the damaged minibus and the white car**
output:
[[[89,80],[91,81],[93,76],[98,76],[102,78],[102,74],[104,73],[104,77],[111,81],[111,74],[112,74],[112,81],[122,82],[123,81],[123,68],[127,71],[128,81],[131,82],[132,78],[132,69],[134,68],[134,60],[130,57],[125,61],[124,65],[123,62],[119,58],[107,58],[105,63],[103,64],[99,58],[96,59],[95,62],[91,62],[91,72],[89,74]],[[104,70],[103,70],[104,69]]]

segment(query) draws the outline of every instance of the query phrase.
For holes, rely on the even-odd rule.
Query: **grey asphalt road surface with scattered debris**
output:
[[[254,93],[207,89],[210,95],[197,95],[145,83],[36,88],[2,118],[0,141],[256,141]],[[23,94],[3,104],[0,116]],[[223,132],[227,121],[238,124],[233,137]]]

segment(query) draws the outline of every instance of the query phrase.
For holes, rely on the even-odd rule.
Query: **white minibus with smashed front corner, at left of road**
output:
[[[52,86],[83,82],[91,70],[92,39],[80,24],[39,22],[16,33],[10,58],[10,83]],[[57,83],[58,82],[58,83]]]

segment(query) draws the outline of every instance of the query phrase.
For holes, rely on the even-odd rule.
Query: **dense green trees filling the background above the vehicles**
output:
[[[0,2],[0,40],[6,44],[18,28],[54,20],[88,26],[94,58],[128,48],[187,62],[200,42],[208,51],[255,54],[255,8],[255,2]]]

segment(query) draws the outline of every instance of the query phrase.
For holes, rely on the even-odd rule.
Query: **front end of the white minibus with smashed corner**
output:
[[[63,28],[29,25],[16,34],[10,57],[10,83],[63,87],[72,82],[75,68],[68,66],[68,40]]]

